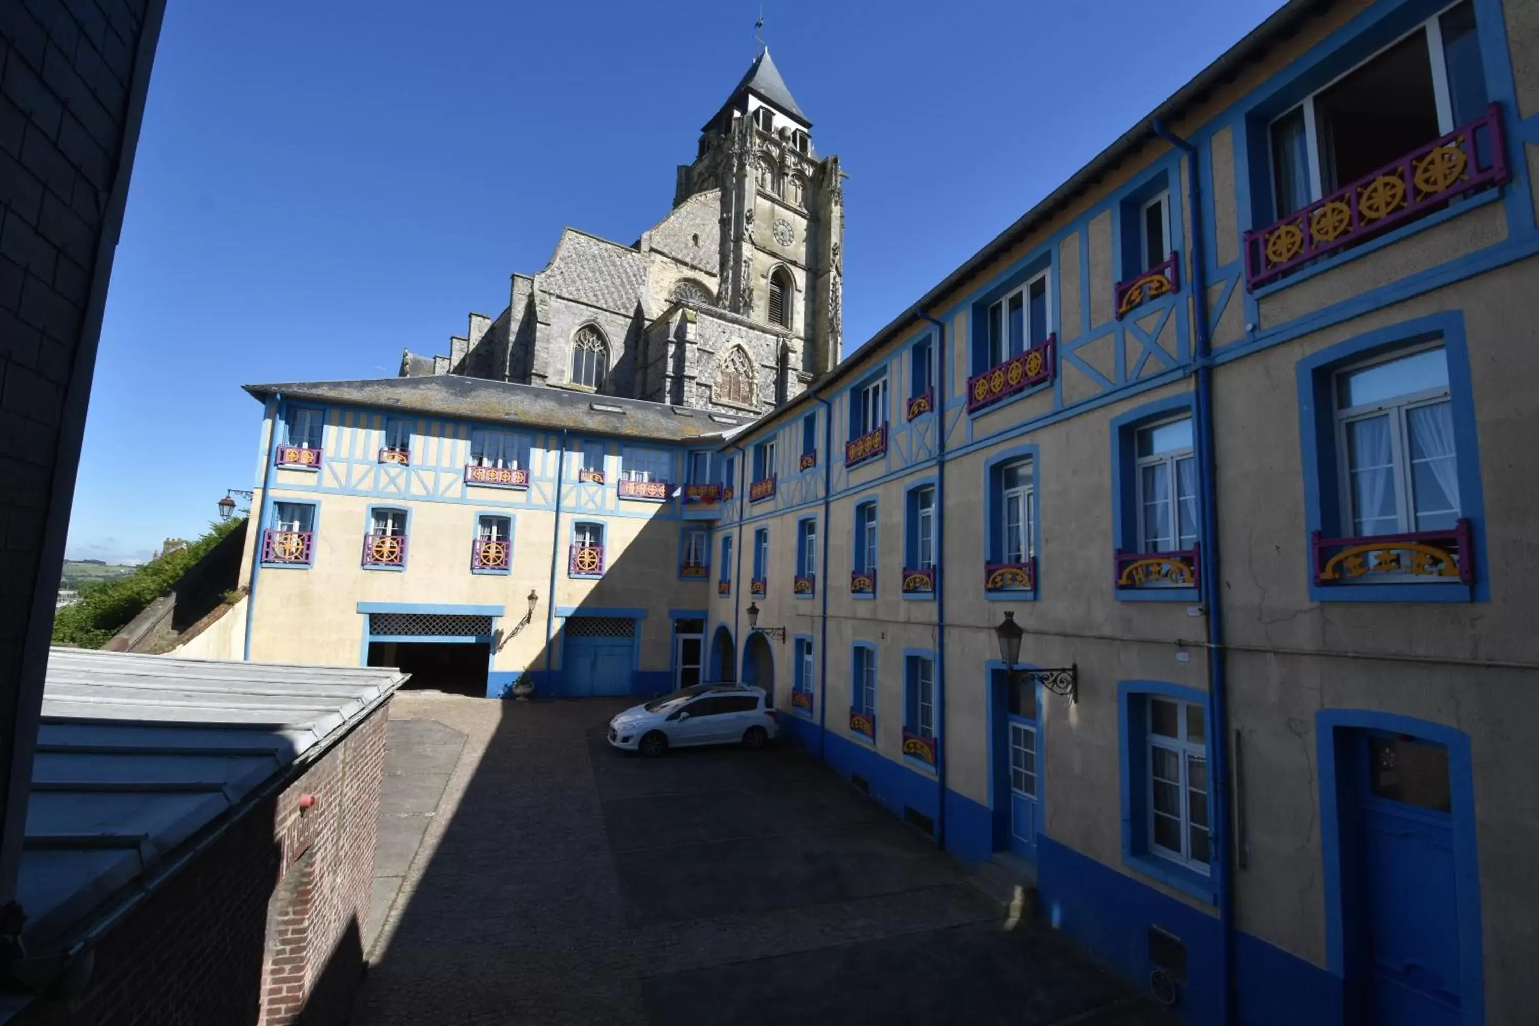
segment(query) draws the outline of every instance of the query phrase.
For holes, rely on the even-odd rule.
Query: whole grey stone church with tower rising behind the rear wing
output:
[[[508,309],[469,315],[449,355],[400,374],[462,374],[762,414],[839,361],[839,157],[760,51],[680,165],[673,211],[629,246],[568,228]]]

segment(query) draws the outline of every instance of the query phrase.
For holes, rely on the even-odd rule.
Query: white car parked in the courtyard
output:
[[[696,685],[633,706],[609,720],[609,745],[662,755],[691,745],[763,748],[779,732],[763,688]]]

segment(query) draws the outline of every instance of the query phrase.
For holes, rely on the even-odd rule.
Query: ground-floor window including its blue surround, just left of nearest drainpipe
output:
[[[1207,695],[1153,680],[1117,686],[1122,732],[1122,861],[1216,900]]]

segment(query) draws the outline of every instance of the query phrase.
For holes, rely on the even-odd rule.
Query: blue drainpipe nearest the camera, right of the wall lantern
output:
[[[1187,154],[1187,209],[1191,217],[1191,291],[1193,291],[1193,341],[1197,365],[1197,474],[1202,488],[1202,589],[1208,611],[1208,723],[1216,738],[1213,745],[1213,806],[1217,814],[1219,837],[1214,851],[1219,855],[1219,1021],[1234,1021],[1234,880],[1230,851],[1230,755],[1228,755],[1228,701],[1224,675],[1224,601],[1219,592],[1219,498],[1216,489],[1216,463],[1213,454],[1213,357],[1208,340],[1208,278],[1202,249],[1202,168],[1197,148],[1171,132],[1160,118],[1150,122],[1150,129]]]

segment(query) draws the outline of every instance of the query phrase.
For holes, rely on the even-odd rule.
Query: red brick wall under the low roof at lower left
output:
[[[117,923],[78,1000],[37,1001],[15,1021],[345,1023],[363,975],[388,711]],[[306,794],[315,804],[302,809]]]

